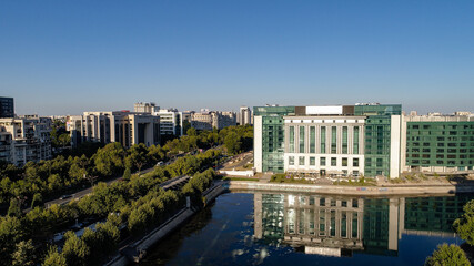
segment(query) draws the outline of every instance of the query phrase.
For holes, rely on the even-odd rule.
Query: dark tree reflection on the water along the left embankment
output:
[[[180,250],[183,241],[203,229],[212,219],[212,207],[214,203],[198,212],[183,227],[171,233],[152,249],[148,250],[145,259],[140,265],[164,265],[174,258]]]

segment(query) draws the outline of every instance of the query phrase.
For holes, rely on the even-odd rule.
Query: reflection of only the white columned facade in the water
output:
[[[304,245],[306,253],[341,256],[362,249],[363,201],[285,195],[284,241]]]

